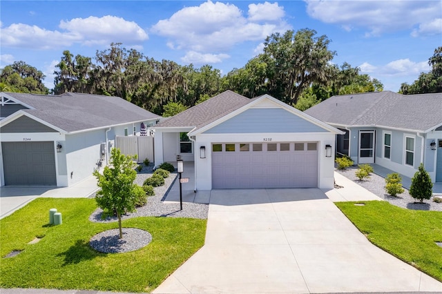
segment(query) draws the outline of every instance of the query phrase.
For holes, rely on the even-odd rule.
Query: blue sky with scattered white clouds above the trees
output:
[[[64,50],[94,57],[111,42],[156,60],[210,64],[227,74],[273,32],[309,28],[332,40],[333,62],[398,91],[442,46],[442,1],[8,1],[0,3],[0,66],[53,71]]]

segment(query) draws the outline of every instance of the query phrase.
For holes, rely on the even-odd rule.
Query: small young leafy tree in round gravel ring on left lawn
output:
[[[133,184],[137,172],[137,164],[132,161],[134,157],[124,155],[119,148],[111,150],[111,166],[105,166],[103,173],[95,170],[98,186],[102,188],[97,192],[95,200],[99,208],[103,209],[103,216],[117,214],[119,226],[119,239],[123,237],[122,215],[135,211],[135,205],[140,197],[145,197],[144,190]]]

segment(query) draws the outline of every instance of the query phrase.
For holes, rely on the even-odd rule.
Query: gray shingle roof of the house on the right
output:
[[[333,96],[305,113],[327,124],[385,126],[425,132],[442,124],[442,93],[391,91]]]

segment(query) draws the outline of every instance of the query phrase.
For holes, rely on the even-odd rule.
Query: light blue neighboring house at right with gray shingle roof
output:
[[[442,182],[442,93],[369,92],[330,97],[305,110],[345,131],[336,151],[356,164],[378,164],[412,177],[423,163]]]

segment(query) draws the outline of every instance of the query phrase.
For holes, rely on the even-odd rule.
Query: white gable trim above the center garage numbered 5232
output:
[[[294,115],[297,115],[298,117],[301,117],[302,119],[305,119],[306,121],[309,121],[312,124],[315,124],[316,126],[320,126],[321,128],[324,128],[325,130],[328,130],[331,133],[335,133],[338,135],[344,134],[343,131],[338,130],[337,128],[334,128],[334,127],[330,126],[329,124],[325,124],[323,121],[320,121],[319,119],[311,117],[310,115],[307,115],[307,113],[302,112],[296,108],[293,108],[293,107],[289,106],[288,104],[285,104],[284,102],[271,97],[268,94],[265,94],[265,95],[262,95],[256,99],[251,100],[248,104],[238,108],[237,110],[230,112],[227,115],[224,115],[224,117],[220,117],[220,119],[212,121],[210,124],[206,124],[206,126],[203,126],[202,128],[199,128],[198,130],[195,130],[195,132],[193,132],[193,131],[189,132],[189,136],[195,136],[200,133],[204,133],[206,130],[211,129],[214,126],[218,126],[218,124],[222,124],[224,121],[227,121],[228,119],[231,119],[232,117],[236,117],[237,115],[244,112],[245,110],[253,108],[253,106],[256,106],[256,104],[259,104],[262,100],[265,100],[265,99],[268,99],[268,100],[272,101],[273,103],[278,104],[278,106],[280,106],[280,108],[284,108],[285,110],[293,113]]]

